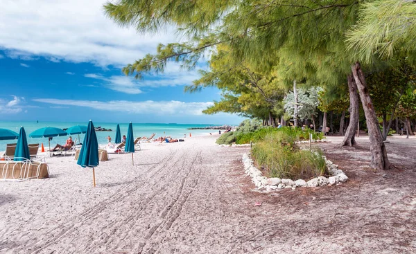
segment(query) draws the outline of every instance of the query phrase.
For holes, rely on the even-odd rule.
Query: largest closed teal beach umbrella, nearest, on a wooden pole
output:
[[[81,148],[80,156],[76,163],[81,167],[92,167],[92,178],[95,187],[94,167],[98,166],[100,160],[98,158],[98,140],[92,120],[89,120],[87,134],[85,134],[83,147]]]

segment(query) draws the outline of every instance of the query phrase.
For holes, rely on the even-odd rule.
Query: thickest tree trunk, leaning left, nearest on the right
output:
[[[359,62],[352,65],[351,69],[358,91],[360,92],[365,120],[367,121],[368,136],[370,137],[370,151],[372,154],[370,167],[376,168],[377,170],[388,170],[391,165],[387,158],[383,136],[381,136],[379,120],[377,120],[376,111],[374,110],[370,93],[365,84],[364,73],[361,70]]]

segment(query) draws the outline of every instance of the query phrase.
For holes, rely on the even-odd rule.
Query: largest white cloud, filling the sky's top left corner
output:
[[[107,0],[3,0],[0,48],[8,57],[123,66],[173,42],[173,31],[139,35],[104,15]],[[22,8],[24,6],[24,8]]]

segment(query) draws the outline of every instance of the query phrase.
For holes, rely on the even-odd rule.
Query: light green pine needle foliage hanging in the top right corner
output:
[[[347,32],[347,48],[363,62],[389,59],[395,52],[416,51],[416,1],[379,0],[363,3],[358,24]]]

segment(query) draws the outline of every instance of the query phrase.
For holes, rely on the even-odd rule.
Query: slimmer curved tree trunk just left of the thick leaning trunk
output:
[[[349,124],[347,131],[345,131],[345,136],[343,143],[340,143],[341,146],[356,145],[355,134],[357,132],[358,126],[358,110],[360,108],[360,102],[358,101],[357,93],[357,84],[354,80],[353,75],[348,75],[348,89],[349,89]]]

